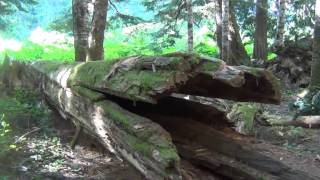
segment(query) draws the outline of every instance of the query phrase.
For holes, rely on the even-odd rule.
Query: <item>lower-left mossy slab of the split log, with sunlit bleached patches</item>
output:
[[[15,76],[19,76],[20,83],[16,85],[38,88],[64,119],[80,125],[147,179],[181,179],[180,157],[170,134],[157,123],[123,109],[101,93],[83,87],[69,88],[67,81],[74,65],[37,62],[14,66],[19,69]],[[78,92],[83,95],[79,96]]]

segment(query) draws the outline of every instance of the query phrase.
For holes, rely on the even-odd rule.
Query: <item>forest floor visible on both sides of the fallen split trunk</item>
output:
[[[285,91],[281,105],[262,105],[264,113],[288,118],[288,104],[297,92]],[[49,110],[41,97],[9,94],[0,95],[0,115],[6,116],[0,118],[0,179],[143,179],[89,136],[82,134],[72,150],[73,125]],[[320,177],[319,138],[319,129],[257,124],[248,139],[259,152]]]

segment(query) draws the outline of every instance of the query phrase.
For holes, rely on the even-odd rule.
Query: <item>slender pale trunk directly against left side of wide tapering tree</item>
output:
[[[221,59],[229,62],[230,57],[230,29],[229,29],[229,0],[222,0],[222,42]]]

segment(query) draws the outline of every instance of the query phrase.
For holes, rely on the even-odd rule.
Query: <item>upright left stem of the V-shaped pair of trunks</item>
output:
[[[73,35],[76,61],[86,61],[89,58],[88,37],[90,32],[90,2],[91,0],[72,1]]]

